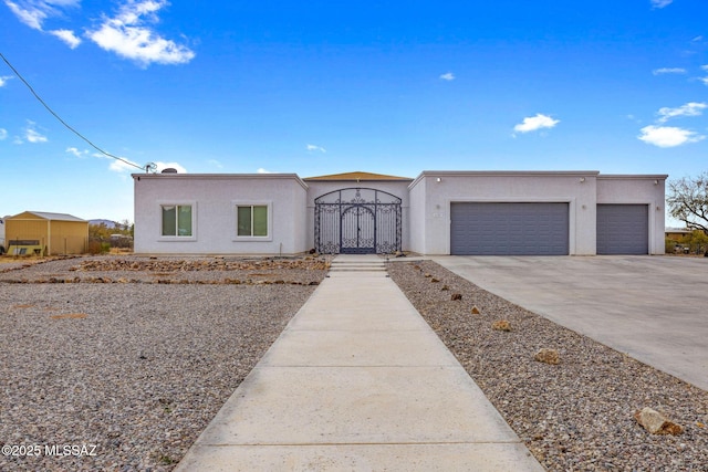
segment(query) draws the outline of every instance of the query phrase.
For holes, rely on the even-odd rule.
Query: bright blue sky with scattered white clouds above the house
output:
[[[188,172],[708,162],[705,0],[0,0],[0,52],[61,118]],[[0,61],[0,214],[133,220],[132,172]]]

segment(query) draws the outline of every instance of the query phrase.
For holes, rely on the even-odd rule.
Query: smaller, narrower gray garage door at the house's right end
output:
[[[597,206],[597,254],[648,254],[646,204]]]

